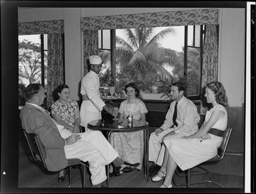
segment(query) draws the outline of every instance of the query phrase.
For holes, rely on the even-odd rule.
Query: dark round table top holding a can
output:
[[[104,120],[93,120],[88,123],[88,128],[90,130],[107,130],[107,131],[115,131],[115,132],[134,132],[138,130],[142,130],[148,126],[148,122],[144,122],[142,120],[133,120],[133,128],[128,128],[127,119],[122,120],[120,122],[114,122],[114,120],[110,122],[105,122]]]

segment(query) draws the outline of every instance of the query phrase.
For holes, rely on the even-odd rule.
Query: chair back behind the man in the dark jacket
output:
[[[27,133],[25,130],[23,130],[23,132],[25,138],[27,139],[27,143],[29,144],[29,149],[33,159],[35,161],[41,161],[44,167],[47,168],[47,165],[45,164],[45,158],[47,158],[47,154],[39,136],[37,136],[35,133]]]

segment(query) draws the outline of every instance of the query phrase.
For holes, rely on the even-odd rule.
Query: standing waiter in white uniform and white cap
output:
[[[98,74],[102,68],[102,59],[98,55],[89,56],[90,66],[88,73],[82,78],[80,94],[82,95],[82,104],[80,108],[80,126],[84,126],[87,130],[88,122],[101,119],[102,109],[116,116],[118,111],[112,106],[108,106],[100,98],[100,79]]]

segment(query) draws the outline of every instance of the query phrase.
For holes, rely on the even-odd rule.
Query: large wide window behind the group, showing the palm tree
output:
[[[99,31],[101,84],[112,76],[116,92],[136,82],[145,100],[165,100],[162,82],[182,78],[188,83],[187,96],[199,100],[203,25],[106,31]]]

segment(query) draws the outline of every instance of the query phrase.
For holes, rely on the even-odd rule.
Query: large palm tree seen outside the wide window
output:
[[[163,66],[176,66],[176,63],[180,63],[179,56],[176,51],[163,48],[159,41],[167,35],[175,35],[172,27],[156,35],[152,28],[123,31],[128,38],[127,42],[116,37],[116,67],[119,69],[120,79],[133,80],[141,83],[142,88],[149,89],[156,84],[156,74],[162,73],[171,78],[172,75]]]

